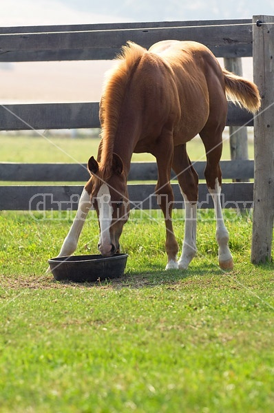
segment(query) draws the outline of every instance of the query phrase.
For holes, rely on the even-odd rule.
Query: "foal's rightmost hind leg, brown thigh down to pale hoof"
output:
[[[233,268],[233,258],[229,250],[229,232],[224,225],[221,204],[222,172],[220,169],[220,158],[222,155],[222,133],[209,135],[206,131],[200,133],[207,154],[207,166],[204,170],[204,177],[207,180],[207,187],[211,193],[216,218],[216,240],[219,245],[218,259],[223,270]]]

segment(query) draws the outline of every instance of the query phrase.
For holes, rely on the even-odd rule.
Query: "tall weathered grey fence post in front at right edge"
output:
[[[253,72],[262,107],[254,118],[251,262],[271,260],[274,218],[274,17],[253,17]],[[270,24],[268,24],[270,23]]]

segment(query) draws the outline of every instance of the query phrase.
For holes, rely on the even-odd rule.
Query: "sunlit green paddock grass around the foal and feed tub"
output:
[[[3,160],[23,161],[10,145]],[[46,158],[30,149],[25,162]],[[135,212],[121,237],[125,275],[74,284],[45,273],[73,217],[1,211],[0,412],[272,412],[274,265],[250,263],[252,215],[225,216],[229,273],[217,265],[213,211],[200,214],[188,271],[164,271],[162,217]],[[180,211],[174,226],[181,240]],[[97,242],[91,213],[76,253]]]

